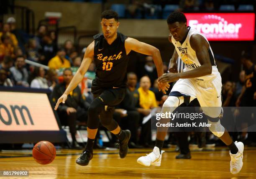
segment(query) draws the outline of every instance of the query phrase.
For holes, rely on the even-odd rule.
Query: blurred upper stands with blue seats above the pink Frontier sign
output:
[[[106,1],[108,3],[108,1]],[[109,1],[110,2],[110,1]],[[113,4],[122,18],[166,19],[170,12],[253,11],[255,0],[130,0]]]

